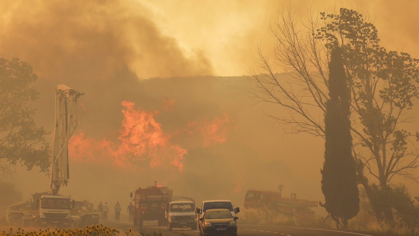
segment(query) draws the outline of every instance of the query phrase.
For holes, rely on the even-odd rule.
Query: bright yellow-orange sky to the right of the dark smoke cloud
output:
[[[147,16],[155,19],[167,35],[177,39],[188,52],[202,49],[218,76],[247,75],[249,64],[257,58],[255,47],[273,52],[274,39],[269,34],[279,11],[291,8],[304,20],[310,10],[339,9],[341,6],[368,11],[378,27],[383,46],[404,50],[418,57],[416,22],[418,1],[382,0],[203,0],[146,1],[152,9]]]

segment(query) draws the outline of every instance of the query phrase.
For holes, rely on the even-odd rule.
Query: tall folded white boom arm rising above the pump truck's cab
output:
[[[51,191],[58,194],[59,187],[67,185],[68,168],[68,141],[78,125],[77,99],[82,92],[59,84],[55,94],[55,128],[52,143],[51,157]]]

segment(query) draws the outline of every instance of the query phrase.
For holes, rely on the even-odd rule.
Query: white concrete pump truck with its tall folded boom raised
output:
[[[75,201],[58,194],[61,186],[67,186],[68,142],[78,126],[77,99],[84,95],[65,85],[58,85],[55,94],[55,128],[51,157],[51,194],[41,195],[36,200],[38,214],[33,216],[35,225],[56,225],[72,227],[80,217],[70,215]]]

